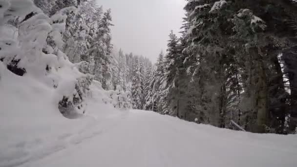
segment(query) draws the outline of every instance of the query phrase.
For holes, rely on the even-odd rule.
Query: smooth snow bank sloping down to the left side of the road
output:
[[[107,113],[120,112],[105,104],[104,91],[93,85],[96,95],[87,99],[87,113],[80,119],[65,118],[58,102],[64,94],[63,88],[74,86],[71,85],[74,78],[67,70],[61,69],[59,76],[69,83],[55,89],[35,76],[15,75],[0,62],[0,150],[5,150],[0,151],[0,167],[16,166],[34,159],[41,151],[45,156],[69,146],[69,142],[79,142],[90,135],[87,129],[104,120]],[[76,135],[70,141],[64,140],[73,134]]]

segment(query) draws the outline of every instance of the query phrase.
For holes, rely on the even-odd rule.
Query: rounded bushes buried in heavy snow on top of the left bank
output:
[[[61,51],[67,14],[75,8],[49,18],[31,0],[0,0],[0,6],[0,61],[11,72],[52,89],[64,116],[84,113],[92,77],[79,72]],[[12,28],[7,24],[13,19],[19,23]]]

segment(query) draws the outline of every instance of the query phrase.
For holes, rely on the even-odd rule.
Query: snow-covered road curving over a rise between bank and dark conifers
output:
[[[123,111],[65,134],[21,167],[296,167],[297,136],[259,135]],[[81,134],[80,134],[81,133]],[[43,155],[42,155],[43,153]]]

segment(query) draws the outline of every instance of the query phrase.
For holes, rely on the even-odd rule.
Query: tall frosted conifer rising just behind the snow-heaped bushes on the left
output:
[[[69,60],[74,63],[85,61],[90,63],[92,69],[94,58],[88,54],[90,45],[94,42],[95,29],[102,17],[102,7],[94,0],[82,3],[76,15],[71,20],[71,25],[64,34],[64,52]]]

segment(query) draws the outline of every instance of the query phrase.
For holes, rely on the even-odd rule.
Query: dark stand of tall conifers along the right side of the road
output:
[[[296,1],[188,0],[184,9],[182,37],[170,33],[158,62],[166,83],[156,88],[158,111],[218,127],[233,121],[252,132],[294,132]]]

